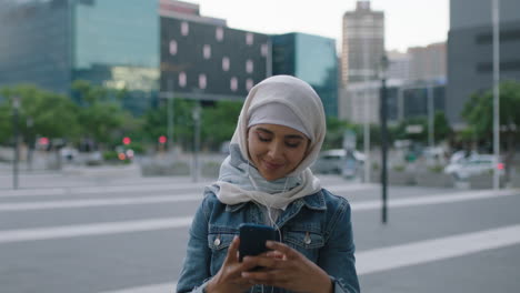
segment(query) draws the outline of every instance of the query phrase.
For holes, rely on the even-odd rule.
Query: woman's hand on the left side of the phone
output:
[[[240,240],[238,236],[233,239],[228,249],[222,266],[219,272],[209,281],[206,292],[220,293],[220,292],[244,292],[248,291],[252,284],[241,277],[241,273],[254,267],[252,264],[239,262],[238,247]]]

